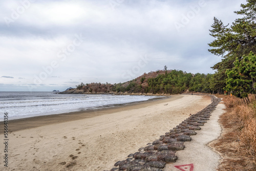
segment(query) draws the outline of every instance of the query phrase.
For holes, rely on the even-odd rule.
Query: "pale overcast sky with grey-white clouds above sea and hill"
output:
[[[241,0],[0,1],[0,91],[63,91],[168,69],[214,73],[216,16]]]

